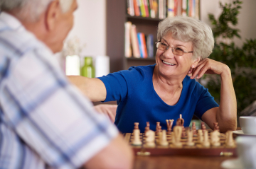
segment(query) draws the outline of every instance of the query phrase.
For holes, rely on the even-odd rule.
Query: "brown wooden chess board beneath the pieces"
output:
[[[208,134],[210,140],[210,133]],[[198,141],[198,136],[193,136],[194,146],[186,146],[187,139],[181,138],[182,147],[178,148],[172,144],[171,134],[167,134],[168,146],[159,146],[157,144],[158,136],[155,136],[156,146],[149,148],[145,146],[146,136],[144,133],[140,133],[140,139],[142,141],[141,146],[133,146],[132,133],[124,133],[124,139],[132,146],[134,153],[139,156],[237,156],[236,146],[229,147],[225,145],[226,136],[220,133],[220,146],[210,146],[208,148],[203,147]]]

